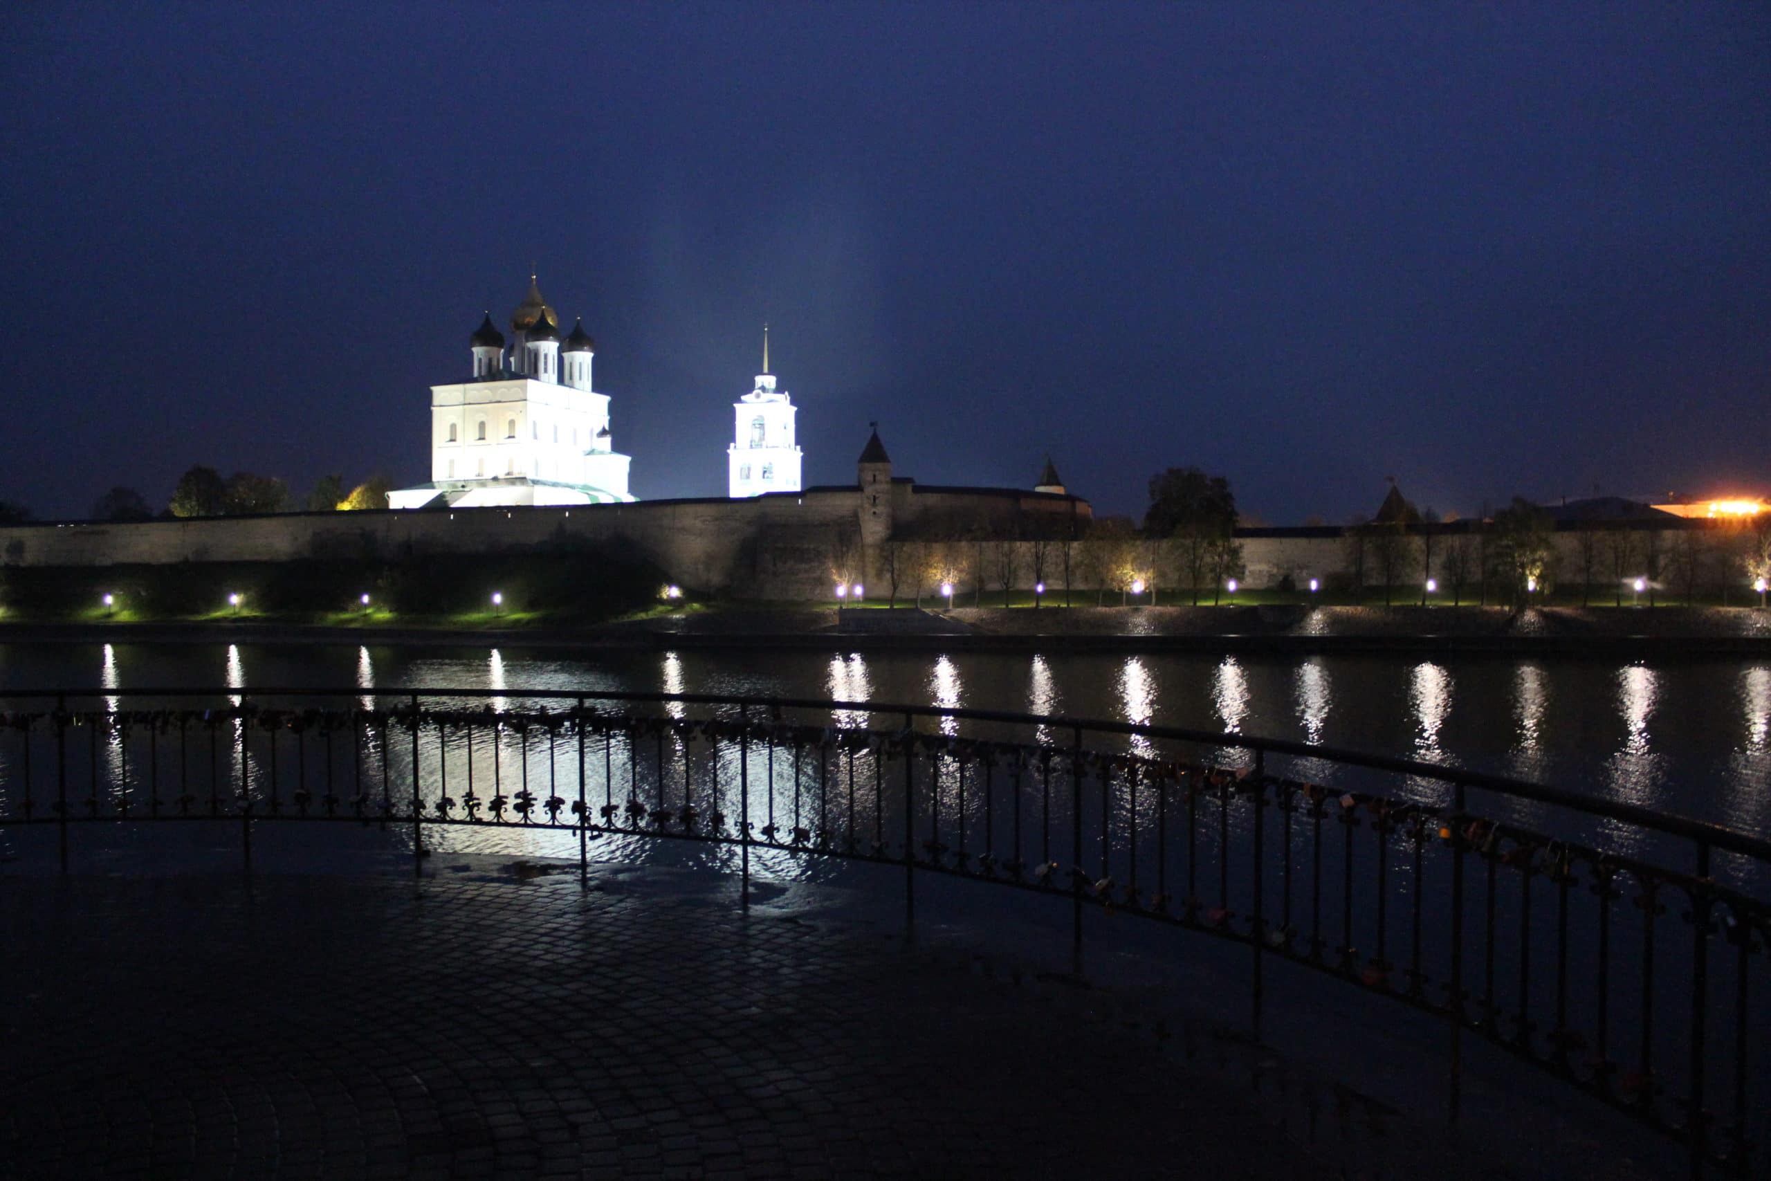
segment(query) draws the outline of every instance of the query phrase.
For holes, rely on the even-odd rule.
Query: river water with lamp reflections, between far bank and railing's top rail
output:
[[[1149,721],[1502,772],[1771,836],[1771,660],[0,645],[0,691],[186,685],[662,691]]]

